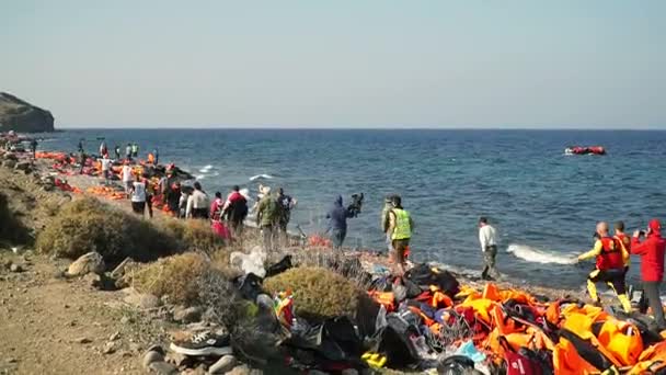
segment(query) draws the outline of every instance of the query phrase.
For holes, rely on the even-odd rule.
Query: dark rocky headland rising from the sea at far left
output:
[[[54,130],[50,112],[36,107],[21,99],[0,92],[0,132],[42,133]]]

